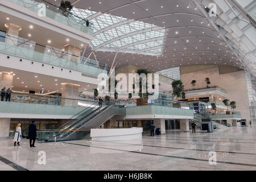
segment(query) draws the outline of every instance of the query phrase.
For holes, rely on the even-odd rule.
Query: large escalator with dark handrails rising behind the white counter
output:
[[[119,101],[118,101],[119,102]],[[59,129],[43,131],[39,137],[42,142],[56,142],[64,140],[78,140],[88,137],[90,129],[96,129],[108,121],[114,115],[125,115],[125,104],[117,101],[106,101],[102,106],[98,103],[92,104],[70,118]]]

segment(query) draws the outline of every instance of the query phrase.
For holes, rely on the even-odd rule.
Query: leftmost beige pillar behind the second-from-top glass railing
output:
[[[11,45],[17,45],[18,43],[18,36],[19,36],[19,31],[22,30],[22,28],[13,23],[6,23],[6,38],[5,38],[5,43],[11,44]]]

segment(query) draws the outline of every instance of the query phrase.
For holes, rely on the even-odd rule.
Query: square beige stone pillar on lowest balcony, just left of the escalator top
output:
[[[79,86],[77,84],[61,83],[62,106],[78,106]]]

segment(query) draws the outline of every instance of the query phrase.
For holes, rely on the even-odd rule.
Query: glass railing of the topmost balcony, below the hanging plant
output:
[[[57,6],[53,6],[50,3],[47,3],[47,5],[45,6],[42,6],[42,3],[31,0],[1,0],[0,4],[1,3],[2,5],[8,6],[12,9],[15,9],[16,11],[22,11],[22,13],[33,15],[36,18],[49,18],[56,21],[57,23],[61,23],[65,26],[75,28],[76,30],[79,30],[86,34],[93,35],[93,24],[91,24],[90,26],[86,26],[85,19],[82,19],[81,17],[73,14],[68,17],[61,15],[59,8]],[[18,5],[19,8],[16,8],[15,5]],[[38,13],[42,12],[42,8],[44,9],[44,7],[46,8],[44,14],[45,16],[39,17]],[[26,9],[26,11],[23,11],[24,9]],[[30,11],[32,11],[32,13]]]

